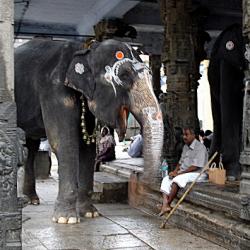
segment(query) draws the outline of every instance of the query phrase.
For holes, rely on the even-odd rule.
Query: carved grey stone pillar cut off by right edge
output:
[[[250,0],[243,0],[243,35],[247,40],[245,54],[250,59]],[[240,156],[242,174],[240,181],[241,211],[240,217],[250,220],[250,64],[245,71],[245,96],[243,106],[243,150]]]

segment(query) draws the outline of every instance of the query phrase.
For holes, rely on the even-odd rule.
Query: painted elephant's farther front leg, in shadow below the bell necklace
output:
[[[78,209],[79,215],[84,217],[97,217],[97,209],[92,205],[91,195],[94,182],[94,164],[96,145],[80,143]]]

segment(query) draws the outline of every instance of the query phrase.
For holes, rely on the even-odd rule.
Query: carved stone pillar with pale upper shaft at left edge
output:
[[[17,202],[16,106],[13,101],[12,0],[0,0],[0,249],[21,249],[21,210]]]

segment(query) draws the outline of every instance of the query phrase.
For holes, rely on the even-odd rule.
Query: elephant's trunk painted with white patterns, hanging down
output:
[[[163,120],[151,85],[151,75],[148,72],[144,72],[144,77],[133,85],[130,92],[130,102],[130,111],[143,129],[143,181],[155,183],[156,179],[159,178],[163,145]]]

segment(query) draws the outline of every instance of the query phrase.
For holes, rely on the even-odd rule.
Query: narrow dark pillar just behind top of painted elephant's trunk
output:
[[[159,100],[159,94],[161,93],[161,56],[150,55],[149,66],[152,70],[154,92]]]

